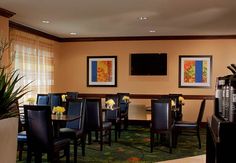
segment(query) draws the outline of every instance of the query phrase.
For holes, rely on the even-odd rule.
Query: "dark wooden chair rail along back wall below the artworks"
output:
[[[113,95],[113,94],[96,94],[96,93],[79,93],[79,97],[83,98],[91,98],[91,97],[99,97],[105,98],[106,95]],[[153,98],[161,98],[165,97],[167,94],[130,94],[131,99],[153,99]],[[183,95],[184,99],[186,100],[214,100],[214,95]]]

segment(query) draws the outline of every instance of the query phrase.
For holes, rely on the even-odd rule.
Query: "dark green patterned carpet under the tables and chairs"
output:
[[[198,149],[198,141],[196,136],[179,136],[178,145],[173,148],[172,154],[169,153],[169,147],[166,143],[154,147],[153,153],[150,153],[150,133],[148,127],[129,126],[127,131],[121,133],[118,142],[114,142],[114,132],[112,132],[112,145],[104,145],[103,151],[100,151],[100,145],[93,142],[86,145],[85,157],[81,156],[81,148],[78,148],[78,162],[157,162],[163,160],[171,160],[195,155],[205,154],[206,152],[206,131],[201,130],[202,149]],[[24,152],[23,160],[26,153]],[[46,162],[46,157],[43,157]],[[61,159],[61,162],[65,158]],[[73,160],[73,148],[71,146],[71,162]],[[25,161],[18,161],[18,163]]]

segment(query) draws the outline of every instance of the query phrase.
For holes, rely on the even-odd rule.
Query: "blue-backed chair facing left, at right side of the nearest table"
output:
[[[67,114],[78,115],[79,119],[66,122],[66,127],[60,129],[60,135],[65,138],[73,140],[74,144],[74,162],[77,162],[77,147],[78,141],[82,147],[82,155],[85,156],[85,100],[70,99],[67,101]]]

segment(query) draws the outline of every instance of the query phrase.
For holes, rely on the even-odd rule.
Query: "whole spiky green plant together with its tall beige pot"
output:
[[[10,42],[0,36],[0,158],[2,162],[16,162],[18,108],[16,103],[27,93],[27,85],[16,88],[22,79],[17,70],[3,63]]]

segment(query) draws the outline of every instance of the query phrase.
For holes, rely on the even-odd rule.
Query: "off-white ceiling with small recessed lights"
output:
[[[236,34],[236,0],[1,0],[0,7],[15,12],[16,23],[63,38]]]

